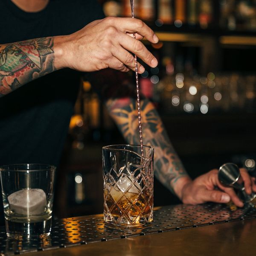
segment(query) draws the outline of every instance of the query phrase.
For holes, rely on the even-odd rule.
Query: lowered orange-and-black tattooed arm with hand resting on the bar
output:
[[[163,185],[185,204],[201,204],[208,201],[227,203],[230,199],[239,207],[243,203],[231,188],[218,181],[214,169],[191,180],[177,156],[154,105],[141,100],[143,144],[154,147],[154,175]],[[140,144],[138,131],[137,101],[134,98],[108,99],[108,110],[128,143]],[[256,185],[244,169],[240,169],[246,192],[256,192]],[[216,190],[218,187],[220,190]]]

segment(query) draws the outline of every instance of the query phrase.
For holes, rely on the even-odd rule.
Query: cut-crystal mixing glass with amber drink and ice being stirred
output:
[[[154,148],[143,145],[102,148],[104,220],[137,227],[153,221]]]

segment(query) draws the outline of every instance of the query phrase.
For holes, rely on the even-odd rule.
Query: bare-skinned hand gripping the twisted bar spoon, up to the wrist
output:
[[[156,67],[157,59],[139,41],[144,37],[151,43],[158,42],[154,32],[141,20],[119,17],[95,20],[71,35],[55,37],[55,67],[84,72],[110,67],[126,72],[135,67],[131,53],[150,67]],[[144,70],[138,63],[139,73]]]

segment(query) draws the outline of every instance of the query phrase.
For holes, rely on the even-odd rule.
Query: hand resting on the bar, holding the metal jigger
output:
[[[244,180],[245,192],[247,194],[256,192],[255,178],[250,177],[246,169],[240,169],[240,173]],[[232,200],[236,206],[244,206],[232,188],[223,186],[219,182],[217,169],[213,169],[195,180],[187,182],[183,186],[181,200],[184,204],[203,204],[210,201],[228,203]]]

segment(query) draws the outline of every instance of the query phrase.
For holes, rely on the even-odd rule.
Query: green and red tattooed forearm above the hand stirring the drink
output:
[[[0,44],[0,97],[54,68],[53,38]]]

